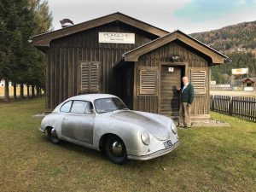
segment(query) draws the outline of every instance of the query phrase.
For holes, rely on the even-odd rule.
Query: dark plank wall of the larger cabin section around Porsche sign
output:
[[[136,44],[99,44],[98,32],[134,32]],[[46,110],[52,110],[68,97],[82,93],[78,87],[80,61],[100,61],[100,92],[114,94],[113,65],[128,50],[155,38],[158,37],[118,21],[55,39],[48,50]]]

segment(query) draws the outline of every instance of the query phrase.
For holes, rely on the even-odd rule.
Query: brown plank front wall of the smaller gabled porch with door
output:
[[[191,108],[191,114],[209,114],[209,61],[204,55],[201,55],[195,49],[176,40],[166,44],[159,49],[142,55],[135,63],[134,73],[137,73],[138,67],[160,67],[161,62],[172,62],[172,55],[178,54],[180,59],[176,62],[188,62],[188,78],[190,79],[190,69],[197,68],[207,71],[206,87],[207,93],[204,95],[195,95],[194,104]],[[134,76],[134,86],[137,86],[137,76]],[[134,89],[133,109],[146,112],[159,113],[158,96],[137,96],[137,89]]]

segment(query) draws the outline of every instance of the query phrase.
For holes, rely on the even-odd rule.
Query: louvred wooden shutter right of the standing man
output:
[[[192,84],[195,94],[206,93],[206,71],[192,71]]]

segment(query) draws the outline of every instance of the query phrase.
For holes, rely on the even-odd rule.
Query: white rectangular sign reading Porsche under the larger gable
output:
[[[99,32],[99,43],[135,44],[135,34],[125,32]]]

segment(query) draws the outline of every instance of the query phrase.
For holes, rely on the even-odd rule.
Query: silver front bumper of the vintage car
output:
[[[179,141],[177,141],[177,143],[174,143],[171,148],[164,148],[164,149],[156,151],[152,154],[147,154],[147,155],[142,155],[142,156],[136,156],[136,155],[128,154],[127,158],[130,159],[130,160],[151,160],[151,159],[154,159],[156,157],[160,157],[164,154],[171,153],[175,148],[177,148],[178,145],[179,145]]]

